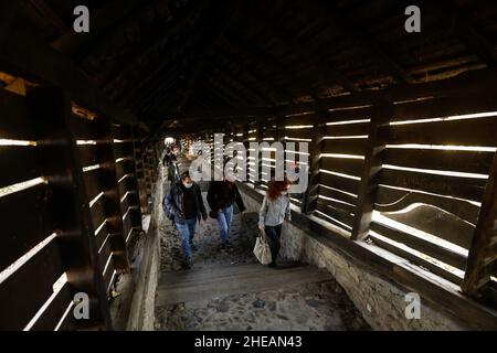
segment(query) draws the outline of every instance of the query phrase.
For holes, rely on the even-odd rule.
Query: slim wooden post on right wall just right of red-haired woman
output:
[[[326,135],[325,120],[325,113],[320,113],[314,125],[313,141],[309,143],[308,185],[300,204],[300,212],[305,214],[311,214],[317,207],[319,169],[321,168],[320,154],[322,153],[324,138]]]

